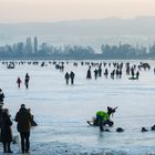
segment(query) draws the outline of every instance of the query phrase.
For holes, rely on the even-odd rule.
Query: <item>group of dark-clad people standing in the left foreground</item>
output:
[[[4,94],[0,89],[0,141],[3,145],[3,153],[13,153],[11,143],[13,142],[12,118],[9,108],[3,108]],[[31,126],[37,126],[31,110],[21,104],[20,110],[17,112],[14,121],[21,138],[22,153],[29,153],[30,149],[30,130]]]

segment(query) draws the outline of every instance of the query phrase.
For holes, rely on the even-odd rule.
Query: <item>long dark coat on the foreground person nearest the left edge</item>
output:
[[[10,143],[12,142],[12,122],[7,113],[2,113],[1,120],[1,142]]]

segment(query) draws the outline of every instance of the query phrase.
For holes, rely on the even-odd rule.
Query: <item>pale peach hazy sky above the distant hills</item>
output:
[[[0,22],[155,17],[155,0],[0,0]]]

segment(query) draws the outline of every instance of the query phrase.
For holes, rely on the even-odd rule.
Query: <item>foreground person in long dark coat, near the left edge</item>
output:
[[[12,122],[10,120],[9,110],[4,108],[1,120],[1,142],[3,144],[3,153],[12,153],[10,144],[12,142]]]

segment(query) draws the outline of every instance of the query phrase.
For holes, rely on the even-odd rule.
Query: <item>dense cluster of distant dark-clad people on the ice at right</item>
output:
[[[145,65],[144,65],[145,64]],[[141,63],[140,65],[131,65],[131,63],[97,63],[97,64],[90,64],[86,72],[86,79],[92,79],[92,66],[95,68],[94,78],[95,80],[102,75],[104,75],[106,79],[110,76],[111,79],[122,79],[123,74],[123,66],[125,65],[125,74],[128,75],[128,80],[138,80],[140,72],[142,69],[149,70],[151,66],[148,63]],[[154,70],[155,72],[155,70]]]

